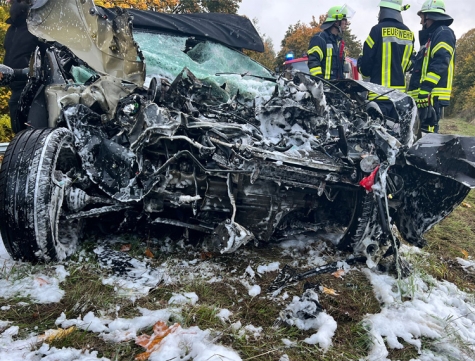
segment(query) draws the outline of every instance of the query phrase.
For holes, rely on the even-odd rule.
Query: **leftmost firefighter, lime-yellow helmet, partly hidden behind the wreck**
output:
[[[343,79],[345,42],[341,38],[354,12],[347,6],[333,6],[308,46],[310,74],[327,80]]]

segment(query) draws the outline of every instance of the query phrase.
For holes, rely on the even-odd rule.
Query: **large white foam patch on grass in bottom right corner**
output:
[[[383,304],[379,314],[367,315],[373,346],[368,360],[387,360],[388,347],[401,349],[400,340],[413,345],[420,360],[465,360],[475,355],[475,300],[447,281],[414,272],[398,281],[363,270]],[[401,290],[401,291],[400,291]],[[401,295],[402,292],[403,294]],[[401,296],[410,298],[401,301]],[[405,299],[404,298],[404,299]],[[422,338],[431,339],[430,350]]]

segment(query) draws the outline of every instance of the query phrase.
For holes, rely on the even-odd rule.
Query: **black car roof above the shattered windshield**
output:
[[[108,18],[113,9],[98,7]],[[239,15],[222,13],[166,14],[156,11],[126,9],[133,15],[134,29],[165,32],[211,39],[233,48],[263,52],[264,44],[252,22]]]

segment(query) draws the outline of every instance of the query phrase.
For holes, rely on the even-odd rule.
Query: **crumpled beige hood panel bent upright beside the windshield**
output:
[[[27,23],[33,35],[67,46],[97,72],[143,85],[145,64],[124,10],[111,21],[92,0],[38,0]]]

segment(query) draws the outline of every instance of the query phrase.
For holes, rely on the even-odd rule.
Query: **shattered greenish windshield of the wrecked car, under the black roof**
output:
[[[249,99],[270,95],[274,90],[274,82],[253,77],[272,78],[269,70],[224,45],[187,36],[143,31],[134,31],[134,38],[145,56],[146,84],[152,77],[173,81],[186,67],[215,92],[222,93],[223,100],[236,95],[238,90],[240,95]]]

